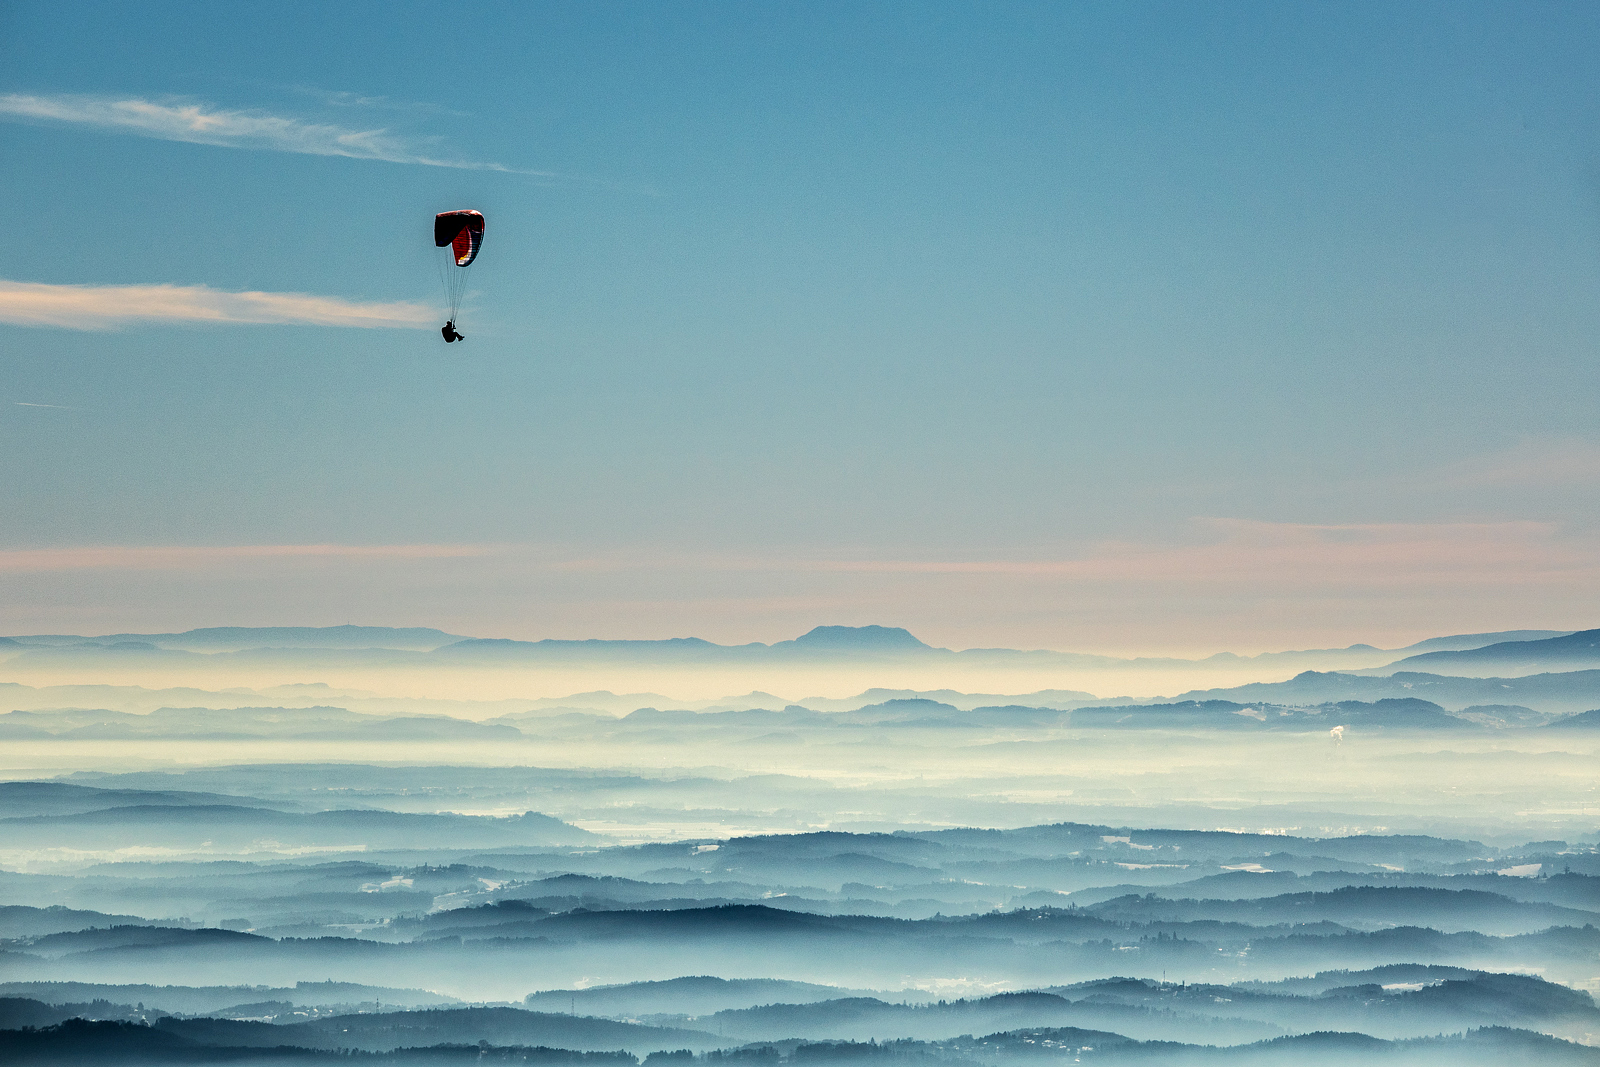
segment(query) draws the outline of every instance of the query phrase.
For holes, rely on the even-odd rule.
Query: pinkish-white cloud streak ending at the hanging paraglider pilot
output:
[[[138,322],[298,323],[419,330],[421,304],[362,304],[309,293],[226,293],[205,285],[45,285],[0,278],[0,323],[112,330]]]

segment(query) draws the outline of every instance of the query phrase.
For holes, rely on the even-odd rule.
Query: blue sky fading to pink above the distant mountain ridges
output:
[[[6,630],[1592,624],[1590,5],[0,19]]]

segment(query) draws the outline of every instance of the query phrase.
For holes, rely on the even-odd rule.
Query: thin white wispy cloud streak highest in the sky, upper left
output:
[[[450,158],[437,154],[435,147],[430,147],[435,144],[430,139],[406,138],[389,130],[350,130],[261,110],[226,110],[186,101],[6,93],[0,96],[0,117],[93,126],[162,141],[214,144],[229,149],[344,155],[357,160],[515,174],[541,173],[517,171],[501,163]]]

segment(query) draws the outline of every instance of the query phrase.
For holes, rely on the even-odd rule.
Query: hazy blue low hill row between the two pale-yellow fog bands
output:
[[[1600,672],[1584,672],[1600,673]],[[1525,729],[1554,725],[1565,707],[1536,710],[1520,704],[1470,704],[1461,699],[1514,697],[1549,709],[1554,704],[1600,702],[1595,678],[1539,675],[1523,680],[1512,691],[1493,688],[1499,681],[1442,678],[1437,683],[1406,677],[1357,678],[1354,675],[1307,673],[1293,681],[1238,686],[1200,694],[1203,699],[1174,699],[1141,704],[1094,704],[1078,699],[1056,705],[987,704],[966,707],[928,697],[893,697],[848,710],[822,712],[798,704],[781,709],[693,710],[686,707],[640,707],[614,717],[598,709],[568,709],[566,713],[528,710],[488,721],[448,715],[379,717],[339,707],[162,707],[139,715],[115,710],[58,709],[0,713],[0,741],[342,741],[342,742],[490,742],[520,744],[538,739],[595,742],[602,739],[640,741],[662,731],[680,742],[704,736],[717,744],[782,744],[803,736],[848,739],[862,731],[882,729],[1226,729],[1226,731],[1326,731],[1336,726],[1368,729]],[[1549,681],[1557,694],[1534,693],[1538,681]],[[1376,694],[1376,701],[1318,699],[1342,696],[1350,688]],[[1451,699],[1458,710],[1416,696],[1382,696],[1422,688],[1430,696]],[[1550,686],[1547,686],[1550,688]],[[1238,689],[1248,689],[1240,693]],[[1258,699],[1222,699],[1224,696]],[[1269,696],[1272,699],[1259,699]],[[1026,697],[1021,697],[1026,699]],[[1594,717],[1578,715],[1566,729],[1589,728]],[[3,789],[3,785],[0,785]],[[46,813],[40,813],[46,814]]]

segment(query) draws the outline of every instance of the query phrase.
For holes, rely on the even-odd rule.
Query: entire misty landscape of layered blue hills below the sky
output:
[[[1600,630],[237,627],[0,670],[3,1062],[1600,1062]],[[762,673],[797,691],[667,694]]]

